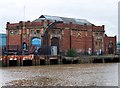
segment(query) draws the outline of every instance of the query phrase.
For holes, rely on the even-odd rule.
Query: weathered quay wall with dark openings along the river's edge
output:
[[[37,66],[53,64],[119,63],[119,55],[64,57],[51,55],[5,55],[0,56],[0,66]]]

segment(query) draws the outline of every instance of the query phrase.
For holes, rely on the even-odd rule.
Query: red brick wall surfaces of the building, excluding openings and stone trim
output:
[[[49,23],[49,21],[47,21]],[[47,23],[47,24],[48,24]],[[45,25],[44,21],[41,22],[26,22],[25,23],[25,29],[23,28],[23,24],[21,22],[15,24],[7,23],[7,45],[18,45],[22,48],[22,43],[26,42],[28,46],[31,45],[31,39],[33,37],[40,37],[31,35],[30,36],[30,30],[31,29],[41,29],[43,28],[43,25]],[[113,42],[114,46],[114,53],[116,50],[116,37],[104,37],[104,25],[103,26],[95,26],[95,25],[77,25],[77,24],[65,24],[65,23],[59,23],[54,25],[54,27],[61,31],[61,38],[60,38],[60,50],[62,52],[67,52],[70,49],[70,30],[71,30],[71,48],[76,49],[78,52],[88,52],[88,49],[91,48],[92,52],[96,52],[98,49],[102,49],[106,54],[108,54],[108,49],[106,46],[108,46],[109,41]],[[54,29],[53,27],[53,29]],[[44,28],[46,29],[46,28]],[[11,30],[18,30],[18,34],[10,34]],[[52,30],[52,29],[48,29]],[[27,31],[29,31],[27,33]],[[99,32],[102,33],[102,41],[97,47],[98,40],[96,40],[97,36],[94,35],[94,33]],[[49,34],[47,37],[43,36],[43,40],[48,46],[50,46],[51,43],[51,32],[48,32]],[[99,35],[98,35],[99,36]],[[103,39],[104,38],[104,39]]]

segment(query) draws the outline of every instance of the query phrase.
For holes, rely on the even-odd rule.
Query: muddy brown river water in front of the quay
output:
[[[118,86],[118,63],[0,68],[1,86]]]

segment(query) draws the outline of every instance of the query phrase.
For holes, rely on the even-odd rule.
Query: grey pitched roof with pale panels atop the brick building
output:
[[[49,16],[49,15],[41,15],[38,19],[34,20],[34,22],[40,22],[41,20],[50,20],[50,21],[62,21],[64,23],[70,23],[73,24],[80,24],[80,25],[92,25],[89,21],[86,19],[76,19],[76,18],[67,18],[67,17],[59,17],[59,16]]]

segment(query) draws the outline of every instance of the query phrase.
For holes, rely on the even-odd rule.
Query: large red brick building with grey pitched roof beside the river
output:
[[[95,26],[85,19],[41,15],[32,22],[7,22],[6,32],[7,50],[43,53],[49,46],[57,46],[57,54],[71,48],[78,53],[114,54],[116,51],[116,36],[107,36],[104,25]]]

